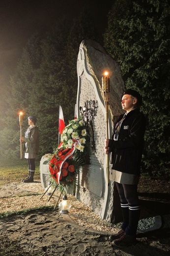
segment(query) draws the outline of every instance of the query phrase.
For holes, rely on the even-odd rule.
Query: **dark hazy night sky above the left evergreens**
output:
[[[101,34],[112,0],[0,0],[0,73],[13,70],[33,32],[47,32],[56,18],[75,18],[86,5]]]

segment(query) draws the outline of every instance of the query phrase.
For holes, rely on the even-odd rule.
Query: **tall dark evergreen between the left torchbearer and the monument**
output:
[[[66,21],[65,21],[66,22]],[[40,129],[40,155],[53,153],[58,143],[59,105],[63,109],[65,123],[74,113],[74,107],[69,101],[67,86],[67,64],[65,45],[68,36],[68,25],[64,21],[58,22],[53,31],[48,33],[41,43],[42,60],[34,72],[31,88],[31,105],[38,117]],[[65,111],[69,109],[69,111]]]

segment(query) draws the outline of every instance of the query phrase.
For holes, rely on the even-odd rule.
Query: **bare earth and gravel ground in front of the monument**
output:
[[[151,228],[153,230],[145,229],[139,233],[137,245],[120,250],[113,248],[108,239],[117,227],[102,222],[77,200],[74,207],[85,208],[85,218],[82,218],[82,215],[79,218],[79,214],[75,216],[75,209],[73,212],[70,209],[69,215],[53,211],[53,207],[49,211],[34,210],[35,206],[55,205],[57,195],[48,202],[47,195],[39,199],[43,192],[40,181],[30,184],[11,183],[0,188],[0,213],[33,209],[25,214],[14,214],[0,219],[1,240],[18,245],[17,252],[14,250],[13,253],[4,254],[1,244],[0,256],[17,256],[18,252],[21,252],[22,256],[168,256],[170,254],[169,214],[157,216]]]

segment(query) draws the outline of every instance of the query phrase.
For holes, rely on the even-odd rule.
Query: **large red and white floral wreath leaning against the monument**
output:
[[[87,163],[91,150],[89,125],[82,117],[69,121],[61,134],[61,142],[49,161],[52,178],[59,187],[71,187]]]

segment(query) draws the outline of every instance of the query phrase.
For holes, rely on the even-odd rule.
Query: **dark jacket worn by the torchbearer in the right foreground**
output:
[[[122,119],[120,115],[117,122]],[[116,125],[116,123],[115,123]],[[114,126],[115,129],[115,126]],[[114,131],[113,129],[113,136]],[[144,146],[145,117],[139,109],[131,110],[123,120],[118,140],[110,140],[112,148],[112,169],[122,173],[140,175],[142,150]]]

